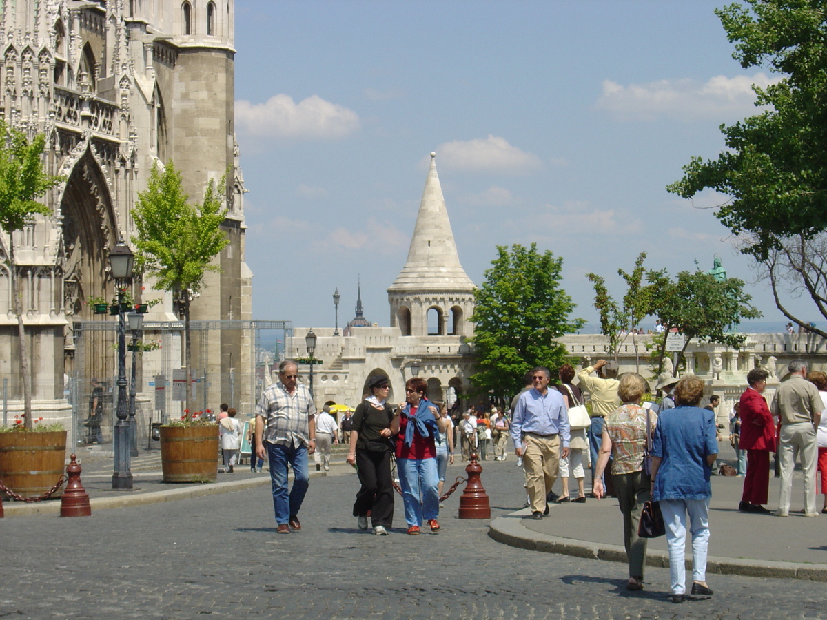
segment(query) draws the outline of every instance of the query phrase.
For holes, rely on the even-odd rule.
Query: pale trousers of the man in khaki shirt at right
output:
[[[778,462],[781,465],[781,498],[778,510],[790,512],[792,495],[792,471],[796,467],[796,456],[801,456],[801,471],[804,474],[804,511],[815,513],[815,464],[818,461],[818,446],[815,441],[815,427],[810,422],[785,424],[781,427],[781,441],[778,446]]]

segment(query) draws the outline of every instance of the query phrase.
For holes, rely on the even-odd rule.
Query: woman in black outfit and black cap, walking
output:
[[[385,536],[394,519],[394,480],[390,476],[390,405],[385,404],[390,391],[384,374],[368,382],[371,396],[356,407],[351,428],[351,446],[347,463],[356,465],[361,489],[353,504],[353,516],[360,530],[367,529],[367,513],[373,533]]]

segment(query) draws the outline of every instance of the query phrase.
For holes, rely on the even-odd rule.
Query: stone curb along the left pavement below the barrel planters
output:
[[[350,469],[350,468],[348,468]],[[331,475],[327,471],[311,471],[310,478],[322,478]],[[346,475],[346,474],[336,474]],[[203,498],[208,495],[232,493],[254,489],[256,487],[270,484],[270,476],[261,476],[243,480],[230,480],[213,484],[198,484],[198,486],[187,486],[183,489],[165,489],[164,491],[151,491],[150,493],[139,493],[134,495],[121,495],[111,498],[91,498],[89,504],[93,512],[107,508],[131,508],[132,506],[146,506],[151,503],[174,502],[179,499]],[[31,515],[58,515],[60,514],[60,502],[34,502],[34,503],[3,503],[6,517],[29,517]]]

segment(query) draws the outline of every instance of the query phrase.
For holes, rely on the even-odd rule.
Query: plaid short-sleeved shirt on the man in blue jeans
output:
[[[281,446],[307,446],[308,422],[316,413],[310,390],[304,384],[296,384],[290,394],[280,382],[265,389],[256,405],[256,416],[265,422],[262,441]]]

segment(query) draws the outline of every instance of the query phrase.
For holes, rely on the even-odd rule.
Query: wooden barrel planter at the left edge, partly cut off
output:
[[[0,432],[0,481],[24,498],[40,497],[63,475],[65,431]],[[63,487],[51,495],[60,498]]]

